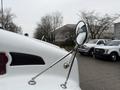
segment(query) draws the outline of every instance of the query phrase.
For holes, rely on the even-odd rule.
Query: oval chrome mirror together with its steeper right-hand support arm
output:
[[[76,57],[76,54],[77,54],[78,47],[85,43],[85,41],[87,40],[87,36],[88,36],[88,28],[87,28],[86,23],[84,21],[79,21],[76,24],[75,29],[76,29],[76,35],[77,35],[76,46],[74,48],[74,51],[72,52],[72,56],[71,56],[71,60],[70,60],[70,68],[69,68],[66,80],[63,84],[60,85],[63,89],[67,88],[67,82],[68,82],[68,79],[69,79],[74,61],[75,61],[75,57]]]

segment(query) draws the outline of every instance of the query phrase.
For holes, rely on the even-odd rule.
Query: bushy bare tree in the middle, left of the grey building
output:
[[[54,43],[55,30],[62,25],[63,17],[61,13],[55,12],[53,14],[45,15],[38,23],[34,37],[43,39],[45,41]]]

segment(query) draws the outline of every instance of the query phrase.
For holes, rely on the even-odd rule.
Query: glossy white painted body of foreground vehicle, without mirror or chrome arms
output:
[[[63,90],[60,85],[64,83],[68,73],[68,69],[64,69],[63,64],[70,60],[70,56],[39,76],[36,85],[29,85],[28,81],[65,56],[67,51],[43,41],[0,30],[0,52],[5,52],[8,57],[7,72],[0,75],[0,90]],[[40,56],[45,61],[45,65],[10,66],[12,57],[9,52]],[[66,90],[81,90],[77,60],[74,62]]]

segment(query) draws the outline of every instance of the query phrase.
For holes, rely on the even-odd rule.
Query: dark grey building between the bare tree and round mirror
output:
[[[75,40],[75,24],[66,24],[55,30],[55,44],[71,45]]]

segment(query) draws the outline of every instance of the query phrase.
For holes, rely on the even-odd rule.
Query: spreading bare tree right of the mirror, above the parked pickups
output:
[[[110,16],[108,14],[99,16],[94,11],[82,11],[80,15],[82,20],[86,21],[87,23],[92,39],[100,38],[102,33],[108,30],[113,25],[114,21],[119,18],[119,16],[120,15],[118,14],[115,14],[113,16]]]

